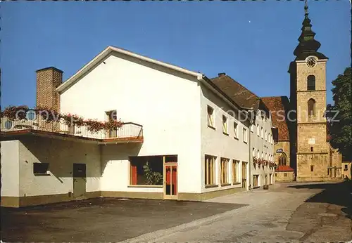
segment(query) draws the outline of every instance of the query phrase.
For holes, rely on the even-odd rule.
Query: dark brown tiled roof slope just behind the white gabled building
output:
[[[227,75],[210,79],[241,107],[258,110],[260,98]]]

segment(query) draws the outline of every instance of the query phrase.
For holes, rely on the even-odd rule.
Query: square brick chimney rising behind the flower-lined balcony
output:
[[[37,107],[60,112],[60,95],[56,88],[63,82],[63,71],[56,67],[37,70]]]

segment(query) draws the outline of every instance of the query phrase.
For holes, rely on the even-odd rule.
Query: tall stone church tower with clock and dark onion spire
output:
[[[308,18],[307,0],[305,17],[298,46],[291,62],[291,107],[296,114],[294,122],[294,165],[297,181],[322,181],[329,178],[329,143],[327,143],[326,64],[328,58],[318,52],[320,43]],[[291,112],[292,113],[292,112]],[[292,151],[292,152],[294,152]]]

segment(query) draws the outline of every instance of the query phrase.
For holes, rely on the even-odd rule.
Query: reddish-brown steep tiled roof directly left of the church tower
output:
[[[289,140],[289,126],[287,125],[287,112],[289,110],[289,98],[286,96],[261,98],[271,112],[272,124],[279,130],[278,140]],[[284,119],[282,117],[285,117]]]

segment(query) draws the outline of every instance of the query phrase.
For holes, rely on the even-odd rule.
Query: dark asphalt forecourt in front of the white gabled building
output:
[[[118,242],[238,209],[241,204],[88,199],[1,208],[3,242]]]

